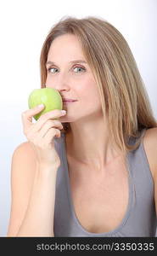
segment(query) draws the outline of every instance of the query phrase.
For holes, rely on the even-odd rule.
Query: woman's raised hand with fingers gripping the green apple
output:
[[[54,137],[60,137],[60,130],[63,125],[59,121],[59,117],[63,116],[61,110],[55,109],[48,113],[44,113],[36,121],[32,123],[32,117],[36,113],[40,113],[42,108],[38,106],[26,110],[22,113],[23,131],[25,137],[31,143],[36,152],[36,159],[39,165],[60,165],[59,155],[54,148]]]

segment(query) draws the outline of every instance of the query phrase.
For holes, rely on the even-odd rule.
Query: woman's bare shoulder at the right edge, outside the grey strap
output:
[[[157,127],[149,128],[143,137],[143,147],[145,149],[152,176],[157,177]],[[157,182],[157,181],[156,181]]]

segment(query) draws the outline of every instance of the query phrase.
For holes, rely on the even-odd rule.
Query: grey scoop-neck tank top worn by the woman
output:
[[[145,131],[144,129],[143,132]],[[135,138],[130,139],[131,143],[134,141]],[[115,230],[104,233],[90,233],[81,226],[71,199],[64,133],[61,133],[61,137],[54,139],[54,145],[61,161],[56,180],[54,236],[155,236],[154,181],[143,141],[136,150],[126,155],[129,200],[125,216]]]

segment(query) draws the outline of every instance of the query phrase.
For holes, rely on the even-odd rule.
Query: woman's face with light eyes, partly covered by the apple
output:
[[[102,114],[98,88],[93,73],[75,35],[55,38],[48,51],[46,87],[59,90],[63,98],[76,102],[64,103],[67,114],[63,122],[74,122]]]

